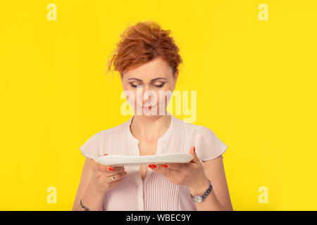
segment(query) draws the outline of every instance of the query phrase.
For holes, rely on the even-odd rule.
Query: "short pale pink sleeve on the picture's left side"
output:
[[[82,155],[84,155],[86,158],[91,158],[94,161],[97,160],[100,156],[100,150],[101,150],[101,132],[94,134],[92,137],[90,137],[81,147],[80,151],[82,152]]]

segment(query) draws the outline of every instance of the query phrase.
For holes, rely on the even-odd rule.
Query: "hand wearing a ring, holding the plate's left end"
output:
[[[89,185],[93,186],[95,191],[105,193],[123,181],[126,175],[125,167],[111,167],[101,165],[97,162],[92,170],[92,179]],[[114,176],[114,181],[111,179],[111,176]]]

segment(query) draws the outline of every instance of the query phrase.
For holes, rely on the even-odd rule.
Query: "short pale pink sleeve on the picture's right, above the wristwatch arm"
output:
[[[225,145],[216,134],[207,127],[202,127],[197,135],[195,150],[201,161],[212,160],[225,153]]]

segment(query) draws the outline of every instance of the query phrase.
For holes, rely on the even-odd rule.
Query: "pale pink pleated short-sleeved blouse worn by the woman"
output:
[[[225,145],[211,129],[190,124],[171,116],[170,126],[157,141],[156,155],[166,153],[189,153],[195,146],[199,160],[212,160],[225,153]],[[139,140],[131,134],[127,122],[94,134],[80,150],[86,158],[96,160],[99,156],[137,155]],[[196,211],[188,186],[173,184],[165,176],[148,168],[142,180],[139,167],[125,167],[125,179],[104,195],[106,211]]]

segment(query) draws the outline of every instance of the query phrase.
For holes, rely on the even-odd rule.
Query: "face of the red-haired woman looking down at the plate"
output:
[[[155,117],[166,115],[178,72],[162,58],[154,58],[138,68],[128,70],[121,77],[123,91],[135,115]]]

